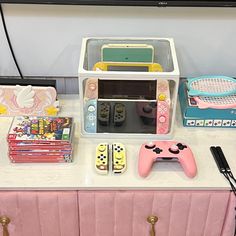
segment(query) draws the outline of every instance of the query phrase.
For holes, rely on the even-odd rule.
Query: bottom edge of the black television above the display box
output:
[[[0,3],[150,7],[236,7],[236,0],[0,0]]]

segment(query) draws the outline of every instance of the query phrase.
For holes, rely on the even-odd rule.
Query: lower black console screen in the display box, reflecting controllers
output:
[[[98,100],[97,133],[156,133],[156,101]]]

